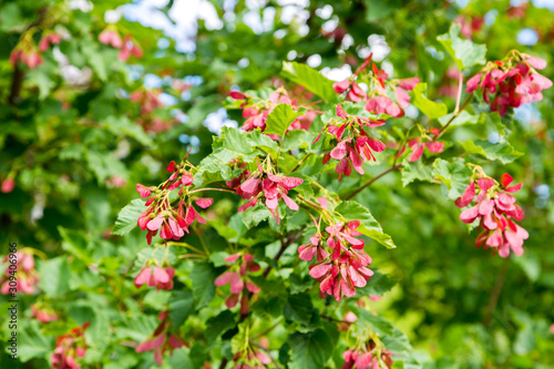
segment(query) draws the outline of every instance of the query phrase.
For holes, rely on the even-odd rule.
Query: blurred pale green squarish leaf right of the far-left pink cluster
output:
[[[39,264],[39,287],[48,297],[59,297],[69,288],[71,270],[66,256],[60,256]]]

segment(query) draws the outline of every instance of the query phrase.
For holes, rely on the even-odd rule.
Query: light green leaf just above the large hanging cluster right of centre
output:
[[[392,238],[382,232],[381,225],[363,205],[348,201],[340,203],[335,211],[339,212],[347,221],[360,221],[361,225],[358,230],[365,236],[373,238],[387,248],[397,247]]]

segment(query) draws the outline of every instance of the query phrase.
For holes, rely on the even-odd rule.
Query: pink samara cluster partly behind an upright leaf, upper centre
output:
[[[243,130],[247,132],[254,131],[256,129],[259,129],[261,132],[264,132],[266,129],[267,116],[278,104],[290,105],[295,111],[300,107],[297,106],[296,100],[290,99],[284,88],[278,88],[277,90],[275,90],[267,100],[255,100],[252,95],[240,91],[232,91],[229,95],[235,100],[244,101],[240,104],[240,109],[243,110],[243,117],[246,119],[243,124]],[[311,122],[317,116],[317,114],[320,113],[321,112],[315,110],[306,111],[290,124],[288,131],[309,130]],[[268,134],[268,136],[274,140],[279,139],[278,135],[274,134]]]

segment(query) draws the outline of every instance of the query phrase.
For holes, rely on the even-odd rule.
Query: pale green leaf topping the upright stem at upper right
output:
[[[460,39],[460,30],[461,25],[453,23],[450,25],[449,33],[439,35],[437,40],[447,49],[460,70],[486,63],[486,47],[473,43],[471,40]]]

